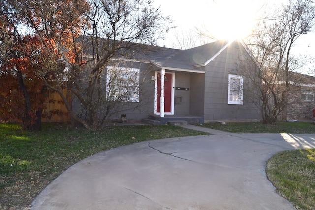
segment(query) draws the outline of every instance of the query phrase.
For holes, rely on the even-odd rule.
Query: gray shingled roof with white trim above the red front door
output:
[[[84,50],[85,55],[92,54],[92,49],[88,42],[86,43],[87,48]],[[239,42],[246,48],[242,41]],[[132,49],[127,50],[127,56],[126,51],[122,51],[121,55],[116,55],[114,59],[149,62],[160,69],[204,73],[205,71],[200,67],[206,66],[231,43],[226,40],[215,41],[187,50],[134,44]]]

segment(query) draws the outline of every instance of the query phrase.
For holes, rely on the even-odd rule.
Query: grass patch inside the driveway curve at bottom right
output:
[[[268,160],[266,172],[296,209],[315,209],[315,149],[279,152]]]

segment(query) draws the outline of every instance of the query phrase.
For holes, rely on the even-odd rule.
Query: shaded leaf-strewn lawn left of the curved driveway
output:
[[[28,132],[19,124],[0,124],[0,210],[29,209],[52,180],[97,152],[146,140],[204,134],[171,125],[89,132],[66,124],[43,124],[41,131]]]

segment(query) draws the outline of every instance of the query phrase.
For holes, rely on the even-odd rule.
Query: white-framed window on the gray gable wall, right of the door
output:
[[[233,80],[239,80],[239,85],[232,83]],[[228,75],[228,104],[243,105],[243,76]]]

